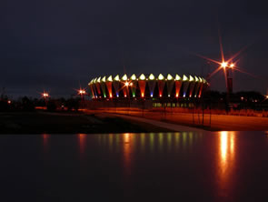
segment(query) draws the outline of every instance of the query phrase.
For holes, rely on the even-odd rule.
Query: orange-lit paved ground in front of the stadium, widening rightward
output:
[[[99,110],[98,110],[99,111]],[[187,113],[164,113],[128,109],[105,109],[105,113],[140,116],[146,119],[169,122],[183,126],[203,127],[207,130],[253,131],[268,130],[268,118],[257,116],[197,115]]]

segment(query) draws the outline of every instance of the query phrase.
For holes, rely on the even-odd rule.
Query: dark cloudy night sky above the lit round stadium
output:
[[[2,0],[0,87],[9,96],[68,97],[95,76],[206,76],[244,46],[233,90],[268,89],[268,12],[255,0]],[[223,74],[211,79],[223,91]]]

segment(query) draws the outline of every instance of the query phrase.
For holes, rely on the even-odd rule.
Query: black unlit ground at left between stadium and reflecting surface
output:
[[[0,113],[0,134],[99,134],[168,132],[143,123],[133,123],[101,113],[79,112],[10,112]]]

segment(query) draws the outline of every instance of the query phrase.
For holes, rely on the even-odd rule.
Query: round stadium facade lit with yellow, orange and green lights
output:
[[[200,98],[208,83],[200,76],[100,76],[88,84],[93,99]]]

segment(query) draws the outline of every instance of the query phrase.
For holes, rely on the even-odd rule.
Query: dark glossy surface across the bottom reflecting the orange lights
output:
[[[264,132],[0,136],[1,201],[267,201]]]

